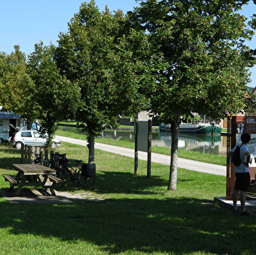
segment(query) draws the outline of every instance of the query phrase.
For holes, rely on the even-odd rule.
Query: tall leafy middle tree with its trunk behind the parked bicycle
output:
[[[121,10],[99,12],[91,1],[74,15],[69,33],[59,35],[57,65],[81,89],[74,117],[88,132],[89,162],[94,161],[94,136],[116,127],[119,115],[138,112],[146,102],[144,89],[152,84],[143,54],[136,54],[148,51],[146,35],[125,29],[125,24]]]

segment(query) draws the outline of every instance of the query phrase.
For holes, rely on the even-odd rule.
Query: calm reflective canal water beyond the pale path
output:
[[[80,133],[78,128],[59,127],[69,132]],[[105,138],[135,142],[133,130],[106,130]],[[104,139],[104,138],[103,138]],[[171,145],[170,132],[152,132],[152,146],[167,147]],[[199,151],[200,153],[223,155],[227,154],[227,136],[211,136],[207,134],[180,134],[178,148],[186,151]]]

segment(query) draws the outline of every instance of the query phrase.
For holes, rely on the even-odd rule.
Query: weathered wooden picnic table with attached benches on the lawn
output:
[[[18,187],[15,194],[20,194],[22,187],[42,187],[50,188],[52,195],[56,196],[54,187],[61,183],[61,179],[58,179],[54,175],[56,170],[48,168],[40,164],[12,164],[15,170],[18,171],[16,177],[10,175],[3,175],[5,181],[10,182],[9,190],[13,190],[14,187]]]

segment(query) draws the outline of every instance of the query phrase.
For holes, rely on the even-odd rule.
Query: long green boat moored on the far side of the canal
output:
[[[222,127],[216,123],[181,123],[180,132],[194,134],[221,134]],[[170,124],[162,123],[159,126],[160,132],[170,132]]]

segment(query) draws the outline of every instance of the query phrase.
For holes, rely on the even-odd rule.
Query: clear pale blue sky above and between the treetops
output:
[[[48,46],[56,44],[60,32],[67,32],[67,23],[79,11],[82,0],[0,0],[0,52],[7,54],[20,45],[27,55],[33,52],[35,44],[42,41]],[[86,1],[86,2],[89,2]],[[124,13],[138,6],[135,0],[95,0],[99,10],[107,5],[110,11],[121,9]],[[243,7],[242,14],[250,17],[256,14],[256,5],[251,0]],[[256,35],[247,43],[256,48]],[[256,86],[256,67],[251,69],[252,82]]]

